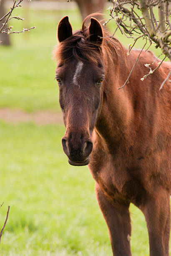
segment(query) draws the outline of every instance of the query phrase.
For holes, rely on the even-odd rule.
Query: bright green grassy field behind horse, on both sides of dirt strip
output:
[[[28,16],[22,9],[18,15],[29,17],[29,24],[15,21],[15,30],[28,26],[36,29],[11,35],[13,46],[0,47],[0,107],[59,111],[51,57],[56,26],[60,18],[69,15],[73,29],[78,29],[80,15],[71,10],[30,10]],[[129,43],[125,37],[119,38],[124,45]],[[137,47],[142,45],[140,42]],[[0,202],[4,201],[0,226],[10,205],[0,255],[112,255],[94,181],[87,167],[68,164],[60,142],[63,134],[60,125],[0,122]],[[133,256],[147,256],[144,217],[133,205],[130,210]]]

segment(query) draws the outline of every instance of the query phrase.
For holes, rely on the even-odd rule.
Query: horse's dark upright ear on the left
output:
[[[73,29],[69,23],[68,16],[63,17],[58,24],[58,40],[62,42],[66,38],[72,36]]]

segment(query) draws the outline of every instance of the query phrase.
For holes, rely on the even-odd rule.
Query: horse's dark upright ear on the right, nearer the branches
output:
[[[103,29],[102,29],[101,23],[95,18],[91,18],[91,23],[89,26],[89,34],[90,34],[91,42],[97,43],[99,45],[102,44]]]

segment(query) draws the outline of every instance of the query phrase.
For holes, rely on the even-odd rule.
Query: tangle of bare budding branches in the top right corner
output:
[[[128,38],[134,39],[136,44],[138,38],[146,36],[149,44],[160,47],[171,61],[171,23],[169,15],[169,3],[171,0],[109,0],[113,3],[113,8],[109,8],[111,19],[116,21],[121,33]],[[129,6],[126,4],[130,4]],[[155,18],[153,8],[158,6],[159,20]],[[140,16],[141,10],[142,16]],[[109,22],[106,21],[106,23]],[[116,33],[116,30],[114,33]],[[113,33],[113,35],[114,35]],[[129,47],[128,53],[133,46]]]

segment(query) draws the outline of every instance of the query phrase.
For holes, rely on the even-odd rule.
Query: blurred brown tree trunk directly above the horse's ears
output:
[[[87,15],[96,12],[103,12],[106,0],[75,0],[80,9],[82,19]]]

